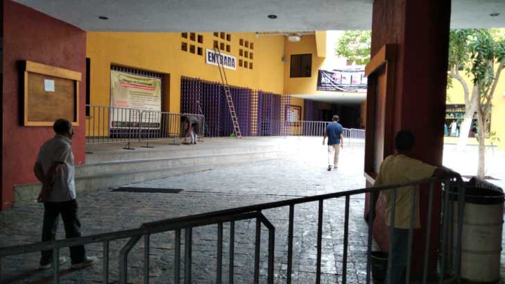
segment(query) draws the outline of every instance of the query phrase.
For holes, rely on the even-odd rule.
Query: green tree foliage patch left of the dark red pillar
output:
[[[372,31],[345,31],[336,43],[335,54],[364,65],[370,61],[371,43]]]

